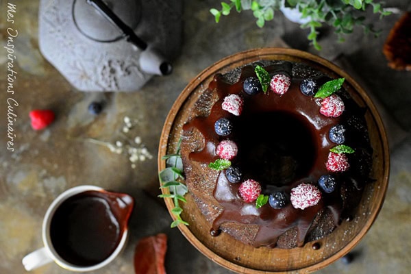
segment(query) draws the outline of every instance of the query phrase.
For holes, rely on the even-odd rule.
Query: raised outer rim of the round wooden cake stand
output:
[[[234,53],[232,55],[228,55],[227,57],[215,62],[214,64],[208,66],[208,68],[204,69],[197,75],[188,85],[182,93],[177,97],[175,100],[175,103],[171,107],[171,110],[169,114],[166,116],[166,120],[164,123],[164,127],[162,129],[161,133],[161,138],[160,138],[160,144],[159,144],[159,150],[158,150],[158,171],[162,171],[165,169],[165,162],[162,160],[162,156],[166,154],[167,147],[169,144],[169,134],[171,132],[172,126],[175,123],[175,118],[177,116],[177,113],[179,112],[179,108],[184,104],[184,102],[188,99],[190,94],[203,82],[203,79],[207,79],[211,75],[214,75],[217,72],[224,73],[224,68],[227,68],[229,64],[235,64],[235,66],[240,66],[242,64],[247,64],[249,62],[253,62],[253,60],[262,60],[264,59],[264,55],[287,55],[290,58],[298,58],[298,59],[303,59],[309,62],[314,62],[316,64],[320,64],[322,66],[325,66],[329,71],[332,71],[336,73],[337,75],[340,75],[340,77],[345,77],[346,81],[351,84],[354,90],[358,92],[358,95],[360,95],[361,99],[364,101],[366,106],[369,108],[369,111],[371,112],[371,115],[375,121],[375,124],[377,125],[377,130],[378,130],[378,135],[379,138],[382,142],[382,160],[383,161],[383,167],[384,167],[384,172],[383,172],[383,177],[381,178],[381,184],[382,184],[382,192],[380,192],[380,195],[378,197],[375,197],[378,201],[377,208],[371,212],[369,215],[369,218],[367,219],[366,223],[364,223],[364,226],[360,229],[360,232],[351,240],[351,242],[348,242],[345,247],[340,249],[340,251],[337,251],[334,253],[332,256],[329,256],[328,258],[325,258],[321,262],[318,262],[316,264],[312,264],[310,266],[305,266],[301,269],[292,269],[290,270],[291,272],[298,271],[298,273],[312,273],[313,271],[318,271],[319,269],[323,269],[325,266],[331,264],[332,262],[335,262],[339,258],[343,257],[346,253],[348,253],[353,247],[358,245],[358,242],[362,240],[362,238],[365,236],[366,232],[369,231],[371,228],[371,225],[373,225],[375,219],[377,218],[377,215],[379,214],[379,211],[382,208],[382,205],[384,203],[384,199],[386,196],[386,190],[388,188],[388,177],[389,177],[389,170],[390,170],[390,160],[389,160],[389,149],[388,149],[388,139],[386,136],[386,131],[384,127],[384,123],[382,122],[382,119],[379,115],[379,112],[377,111],[377,108],[375,108],[375,105],[371,101],[371,98],[369,95],[366,94],[366,91],[350,76],[348,75],[343,69],[340,69],[339,66],[336,66],[336,64],[333,64],[332,62],[326,60],[325,58],[321,58],[318,55],[314,55],[312,53],[308,53],[306,51],[300,51],[298,49],[288,49],[288,48],[280,48],[280,47],[264,47],[264,48],[257,48],[257,49],[249,49],[247,51],[240,51],[238,53]],[[247,58],[244,58],[244,56],[247,56]],[[223,69],[222,69],[223,68]],[[208,86],[208,84],[207,84]],[[162,188],[162,191],[167,191]],[[171,210],[174,208],[174,203],[172,199],[164,199],[164,202],[166,203],[166,207],[169,210],[169,213],[173,220],[175,220],[175,216],[171,212]],[[186,237],[186,239],[196,248],[198,249],[201,253],[203,253],[204,256],[208,257],[210,260],[213,262],[216,262],[217,264],[225,267],[226,269],[229,269],[231,271],[235,271],[238,273],[249,273],[249,274],[268,274],[268,273],[290,273],[290,271],[264,271],[264,270],[258,270],[258,269],[249,269],[245,266],[241,266],[239,264],[236,264],[234,262],[231,262],[209,249],[206,245],[203,244],[199,239],[195,237],[194,234],[190,231],[190,227],[186,225],[179,225],[178,226],[180,232]]]

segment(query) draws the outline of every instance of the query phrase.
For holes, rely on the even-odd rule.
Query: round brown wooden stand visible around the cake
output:
[[[364,189],[362,201],[352,221],[343,221],[332,234],[314,242],[307,242],[303,247],[294,249],[254,248],[225,233],[212,237],[210,235],[211,225],[197,208],[190,193],[185,196],[187,203],[180,203],[184,210],[182,218],[190,225],[179,225],[178,228],[201,253],[231,271],[252,274],[296,271],[311,273],[338,260],[358,244],[382,208],[388,186],[389,151],[382,119],[366,92],[338,66],[311,53],[285,48],[251,49],[230,55],[212,64],[186,86],[166,117],[160,139],[158,169],[162,171],[166,168],[165,161],[161,159],[163,155],[175,153],[182,135],[182,125],[186,123],[195,101],[206,90],[213,75],[225,73],[243,64],[262,59],[303,62],[334,78],[345,77],[345,84],[349,86],[347,90],[351,97],[369,110],[366,114],[366,121],[374,149],[371,177],[376,181],[368,184]],[[168,188],[162,188],[162,191],[164,194],[169,193]],[[165,203],[175,219],[171,213],[174,207],[173,201],[165,199]],[[320,249],[313,248],[316,242],[321,246]]]

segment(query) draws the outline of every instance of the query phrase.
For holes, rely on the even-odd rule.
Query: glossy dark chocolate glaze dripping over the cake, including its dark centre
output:
[[[262,185],[264,194],[283,190],[289,195],[291,188],[303,182],[316,184],[321,175],[329,173],[325,162],[329,149],[336,144],[329,140],[328,132],[332,125],[343,123],[349,127],[346,145],[359,148],[358,151],[364,153],[360,160],[357,159],[357,152],[350,155],[352,164],[360,163],[360,166],[345,173],[334,173],[340,188],[330,194],[323,192],[321,201],[305,210],[295,209],[290,203],[281,210],[275,210],[269,204],[257,209],[254,203],[245,203],[241,199],[238,195],[239,184],[229,183],[221,171],[215,183],[214,198],[223,211],[212,223],[212,235],[218,235],[220,226],[225,222],[256,224],[260,229],[253,245],[275,247],[279,236],[297,228],[297,246],[301,247],[316,215],[323,209],[330,210],[335,225],[338,225],[344,213],[345,199],[349,196],[344,190],[351,189],[352,184],[360,190],[368,179],[372,150],[367,142],[364,110],[342,91],[338,93],[345,101],[343,115],[338,118],[323,116],[319,113],[321,99],[301,93],[299,86],[303,77],[292,73],[291,67],[290,62],[265,67],[271,74],[280,71],[292,75],[288,92],[281,96],[270,91],[250,96],[242,90],[247,77],[256,77],[253,65],[244,66],[234,84],[227,82],[224,75],[215,75],[208,88],[217,92],[218,101],[208,116],[195,117],[183,127],[184,131],[198,129],[205,142],[203,149],[190,153],[189,159],[204,164],[214,162],[219,158],[215,153],[219,142],[225,138],[234,140],[238,144],[238,155],[232,164],[240,166],[243,179],[256,179]],[[322,76],[320,81],[325,82]],[[221,108],[223,99],[229,94],[238,94],[245,99],[240,116]],[[353,120],[351,116],[358,119],[352,125],[349,124]],[[214,132],[214,123],[222,117],[234,122],[234,132],[227,137]]]

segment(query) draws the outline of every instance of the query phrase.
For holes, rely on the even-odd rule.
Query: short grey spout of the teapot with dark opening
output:
[[[140,54],[140,69],[145,73],[153,75],[169,75],[173,71],[173,66],[156,49],[148,48]]]

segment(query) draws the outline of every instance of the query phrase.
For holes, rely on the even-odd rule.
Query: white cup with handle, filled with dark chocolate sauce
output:
[[[93,271],[121,253],[134,199],[97,186],[76,186],[49,206],[42,247],[23,258],[27,271],[54,261],[71,271]]]

